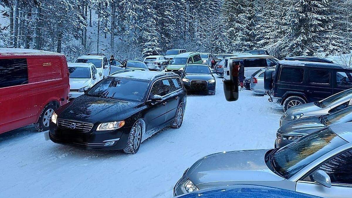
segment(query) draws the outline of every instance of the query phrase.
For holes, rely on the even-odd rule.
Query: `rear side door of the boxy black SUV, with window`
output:
[[[331,72],[327,69],[309,69],[306,95],[310,101],[327,98],[333,94]]]

